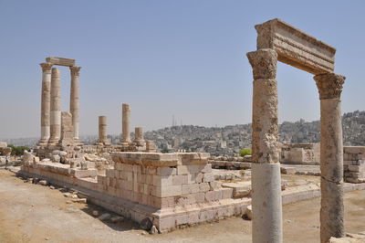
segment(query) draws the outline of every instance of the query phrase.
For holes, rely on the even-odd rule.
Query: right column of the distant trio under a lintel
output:
[[[81,67],[69,67],[71,70],[71,95],[69,99],[69,111],[72,114],[74,126],[74,140],[78,142],[78,110],[79,110],[79,69]]]

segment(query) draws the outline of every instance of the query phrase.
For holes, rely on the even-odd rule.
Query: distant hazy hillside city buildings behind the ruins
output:
[[[243,148],[251,147],[251,124],[225,127],[176,125],[156,131],[144,132],[144,139],[151,140],[163,152],[207,152],[212,155],[233,156]],[[365,145],[365,111],[353,111],[342,116],[344,145]],[[279,126],[282,143],[318,143],[320,122],[283,122]],[[132,133],[133,137],[134,134]],[[111,143],[119,143],[120,135],[109,135]],[[33,147],[39,138],[0,139],[8,144]],[[93,144],[97,135],[81,136],[85,144]]]

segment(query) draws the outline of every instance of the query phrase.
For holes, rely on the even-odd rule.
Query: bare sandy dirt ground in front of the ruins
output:
[[[365,231],[365,191],[346,194],[345,209],[346,231]],[[93,210],[104,212],[0,168],[0,242],[251,242],[251,221],[240,217],[149,235],[128,220],[104,223]],[[318,211],[319,198],[284,206],[284,241],[318,242]]]

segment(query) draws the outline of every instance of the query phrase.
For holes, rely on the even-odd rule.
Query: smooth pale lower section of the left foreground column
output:
[[[252,164],[252,240],[283,242],[280,164]]]

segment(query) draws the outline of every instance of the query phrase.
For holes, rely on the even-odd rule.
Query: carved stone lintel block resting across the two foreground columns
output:
[[[257,49],[274,49],[279,61],[315,75],[333,72],[336,49],[317,38],[277,18],[255,29]]]

